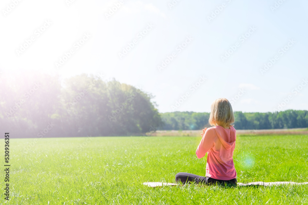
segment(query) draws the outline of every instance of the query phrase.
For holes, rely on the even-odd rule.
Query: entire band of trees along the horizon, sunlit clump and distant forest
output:
[[[1,75],[0,126],[13,137],[140,136],[209,127],[208,112],[159,113],[154,96],[115,79],[81,74]],[[308,111],[234,112],[236,129],[308,127]]]

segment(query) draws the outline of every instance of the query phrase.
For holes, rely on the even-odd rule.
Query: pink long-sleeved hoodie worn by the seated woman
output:
[[[200,159],[208,153],[205,176],[213,179],[230,180],[236,178],[233,163],[233,151],[236,130],[231,126],[225,129],[219,125],[205,130],[205,134],[196,150]]]

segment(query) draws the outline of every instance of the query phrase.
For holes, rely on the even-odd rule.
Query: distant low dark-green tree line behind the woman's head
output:
[[[161,130],[199,130],[211,127],[209,112],[166,112],[161,113],[164,125]],[[235,129],[282,129],[307,128],[307,110],[281,112],[234,112]]]

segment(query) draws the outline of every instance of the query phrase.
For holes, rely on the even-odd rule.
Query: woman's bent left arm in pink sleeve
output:
[[[204,157],[206,152],[208,152],[212,147],[214,147],[214,139],[215,135],[213,129],[206,129],[201,139],[201,142],[196,150],[196,155],[198,159]]]

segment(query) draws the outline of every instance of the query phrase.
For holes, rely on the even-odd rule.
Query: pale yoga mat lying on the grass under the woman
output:
[[[144,182],[144,185],[148,187],[163,187],[163,186],[178,186],[180,184],[177,183],[165,183],[165,182]],[[294,185],[301,185],[301,184],[308,184],[308,182],[297,183],[297,182],[250,182],[250,183],[237,183],[237,186],[273,186],[273,185],[282,185],[282,184],[294,184]],[[183,186],[183,185],[182,185]]]

